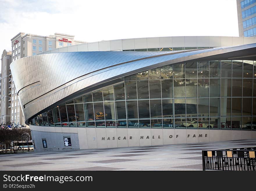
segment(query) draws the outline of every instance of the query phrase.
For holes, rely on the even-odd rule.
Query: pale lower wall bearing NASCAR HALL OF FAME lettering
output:
[[[182,144],[256,138],[256,131],[153,128],[61,128],[30,126],[35,151]],[[63,136],[70,136],[65,147]],[[42,139],[47,140],[43,148]]]

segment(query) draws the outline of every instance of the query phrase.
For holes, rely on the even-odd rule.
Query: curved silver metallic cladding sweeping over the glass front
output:
[[[10,65],[27,120],[61,99],[85,88],[163,65],[252,49],[254,44],[190,51],[65,52],[29,56]],[[236,56],[236,55],[233,55]],[[35,84],[35,85],[33,85]]]

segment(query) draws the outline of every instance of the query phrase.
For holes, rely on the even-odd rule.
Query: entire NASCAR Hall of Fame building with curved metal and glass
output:
[[[256,39],[85,43],[10,65],[36,151],[256,138]]]

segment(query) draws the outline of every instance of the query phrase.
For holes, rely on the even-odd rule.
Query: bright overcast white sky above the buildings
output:
[[[19,32],[86,42],[239,35],[236,0],[0,0],[0,54]]]

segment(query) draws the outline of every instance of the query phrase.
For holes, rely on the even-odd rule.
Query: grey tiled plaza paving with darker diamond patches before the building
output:
[[[243,144],[256,147],[256,139],[1,154],[0,170],[202,170],[202,150]]]

